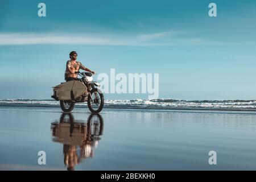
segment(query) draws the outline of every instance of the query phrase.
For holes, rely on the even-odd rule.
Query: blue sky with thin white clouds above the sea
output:
[[[97,73],[159,73],[160,98],[256,97],[255,1],[2,0],[0,10],[0,99],[50,99],[73,50]]]

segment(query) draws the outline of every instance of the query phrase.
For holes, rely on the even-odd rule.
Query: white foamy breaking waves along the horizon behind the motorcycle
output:
[[[85,103],[77,103],[84,106]],[[55,100],[28,100],[7,99],[0,100],[0,107],[59,107],[59,101]],[[221,109],[221,110],[256,110],[256,100],[105,100],[105,108],[129,108],[129,109]]]

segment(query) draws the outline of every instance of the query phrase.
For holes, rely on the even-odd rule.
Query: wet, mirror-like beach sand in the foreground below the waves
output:
[[[255,170],[255,111],[0,107],[1,170]],[[38,163],[39,151],[46,164]],[[217,164],[210,165],[209,151]]]

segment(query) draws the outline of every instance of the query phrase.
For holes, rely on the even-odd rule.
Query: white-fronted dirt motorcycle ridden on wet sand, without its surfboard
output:
[[[77,75],[81,76],[78,81],[82,82],[86,86],[86,92],[75,100],[59,100],[55,94],[51,96],[57,101],[60,101],[60,107],[65,113],[70,113],[76,103],[86,102],[89,110],[92,113],[100,113],[104,106],[104,95],[100,89],[98,82],[93,81],[92,73],[90,72],[75,72]]]

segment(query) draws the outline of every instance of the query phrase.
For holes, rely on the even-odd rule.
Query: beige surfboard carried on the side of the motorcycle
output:
[[[86,86],[80,81],[67,81],[53,88],[53,92],[59,100],[69,101],[71,99],[71,90],[73,91],[74,98],[80,97],[86,91]]]

